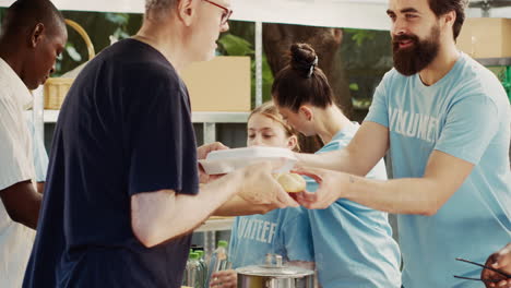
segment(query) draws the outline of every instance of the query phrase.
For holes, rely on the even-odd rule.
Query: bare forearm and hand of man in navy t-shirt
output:
[[[136,193],[131,196],[133,233],[145,247],[156,245],[190,232],[238,193],[251,203],[297,206],[272,177],[276,167],[270,161],[245,167],[201,187],[197,195],[173,190]]]

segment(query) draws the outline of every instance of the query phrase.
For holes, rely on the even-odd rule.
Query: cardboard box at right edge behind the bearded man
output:
[[[472,58],[511,57],[511,19],[466,19],[457,48]]]

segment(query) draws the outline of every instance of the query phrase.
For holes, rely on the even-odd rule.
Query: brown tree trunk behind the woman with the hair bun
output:
[[[318,55],[318,65],[329,79],[336,104],[346,117],[350,118],[352,96],[338,52],[342,38],[343,32],[340,28],[263,24],[263,48],[273,74],[275,75],[288,63],[292,44],[309,44]],[[306,137],[300,142],[304,152],[316,152],[322,146],[318,137]]]

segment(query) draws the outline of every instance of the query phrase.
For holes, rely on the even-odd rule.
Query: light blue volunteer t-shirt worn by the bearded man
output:
[[[485,263],[511,240],[510,104],[497,77],[461,53],[439,82],[418,74],[385,74],[366,121],[389,129],[394,178],[420,178],[437,149],[474,164],[462,187],[433,216],[400,215],[403,285],[483,287],[453,275],[479,277]]]

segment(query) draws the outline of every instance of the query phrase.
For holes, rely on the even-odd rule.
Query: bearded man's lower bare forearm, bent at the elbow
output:
[[[433,215],[460,189],[473,164],[435,151],[420,178],[389,181],[340,173],[341,196],[363,205],[396,214]]]

